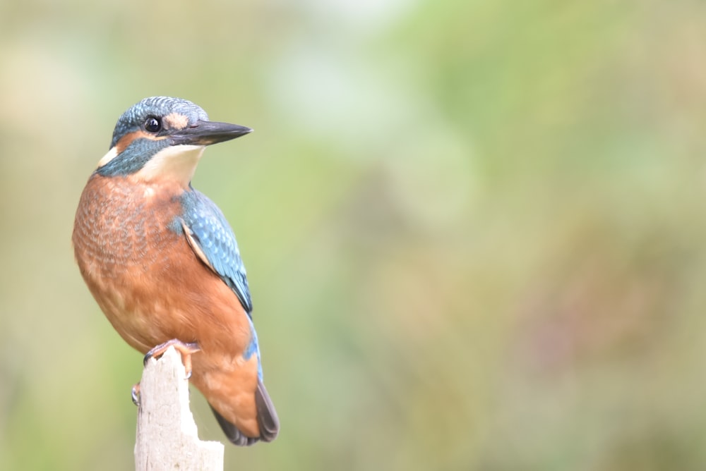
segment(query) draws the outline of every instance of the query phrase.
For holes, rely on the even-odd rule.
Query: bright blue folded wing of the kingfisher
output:
[[[184,209],[181,221],[175,221],[175,226],[181,227],[174,229],[184,230],[196,255],[234,291],[251,316],[253,304],[245,265],[240,258],[235,234],[225,216],[213,201],[193,189],[181,196],[181,206]]]

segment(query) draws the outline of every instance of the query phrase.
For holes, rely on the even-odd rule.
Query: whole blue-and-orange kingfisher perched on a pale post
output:
[[[72,237],[80,273],[114,329],[145,362],[179,350],[239,446],[273,441],[280,421],[263,384],[233,230],[191,178],[207,145],[251,131],[209,121],[185,99],[131,106],[83,189]]]

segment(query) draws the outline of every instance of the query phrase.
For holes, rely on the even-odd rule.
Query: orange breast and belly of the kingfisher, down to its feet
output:
[[[73,231],[78,267],[116,331],[140,352],[179,338],[201,345],[206,355],[195,362],[209,350],[237,357],[251,335],[237,296],[170,229],[182,191],[92,176]]]

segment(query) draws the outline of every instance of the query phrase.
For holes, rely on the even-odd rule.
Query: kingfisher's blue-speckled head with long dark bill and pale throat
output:
[[[205,146],[252,131],[208,121],[200,106],[185,99],[145,98],[120,116],[110,150],[98,162],[102,176],[132,176],[145,183],[189,185]]]

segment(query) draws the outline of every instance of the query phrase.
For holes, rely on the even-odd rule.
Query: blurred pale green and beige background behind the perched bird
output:
[[[1,470],[133,466],[70,239],[155,94],[256,129],[193,181],[282,421],[228,470],[706,469],[706,4],[5,0]]]

